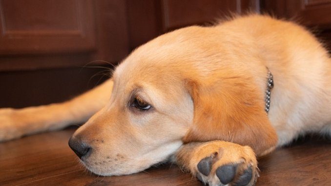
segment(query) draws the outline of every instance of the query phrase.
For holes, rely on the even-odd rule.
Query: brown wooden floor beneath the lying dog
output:
[[[0,144],[0,186],[202,186],[176,165],[129,176],[87,172],[68,147],[75,128]],[[331,142],[310,139],[259,160],[257,186],[330,186]]]

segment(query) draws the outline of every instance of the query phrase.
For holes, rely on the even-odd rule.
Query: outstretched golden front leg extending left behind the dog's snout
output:
[[[112,79],[64,103],[0,109],[0,142],[85,122],[110,98]]]

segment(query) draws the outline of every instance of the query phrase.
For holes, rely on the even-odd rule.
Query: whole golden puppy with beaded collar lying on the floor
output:
[[[174,161],[209,186],[251,186],[256,156],[331,134],[331,59],[303,27],[268,16],[190,26],[140,46],[73,100],[1,109],[0,140],[90,116],[69,145],[96,174]]]

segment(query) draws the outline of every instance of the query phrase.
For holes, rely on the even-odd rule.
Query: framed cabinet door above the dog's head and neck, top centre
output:
[[[259,0],[127,0],[130,49],[189,25],[210,25],[232,14],[259,12]]]

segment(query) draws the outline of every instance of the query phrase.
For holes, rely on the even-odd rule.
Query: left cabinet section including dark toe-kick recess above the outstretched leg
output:
[[[128,53],[124,0],[0,0],[0,107],[73,98]]]

